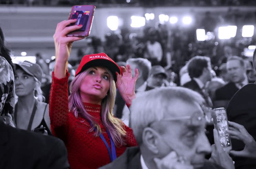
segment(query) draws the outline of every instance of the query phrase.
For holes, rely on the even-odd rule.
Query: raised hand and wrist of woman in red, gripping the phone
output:
[[[76,19],[65,20],[57,24],[55,33],[53,35],[55,44],[55,69],[54,76],[56,78],[63,78],[66,76],[67,59],[70,56],[71,46],[74,41],[79,41],[84,37],[66,36],[68,33],[78,30],[82,25],[68,26],[75,23]]]

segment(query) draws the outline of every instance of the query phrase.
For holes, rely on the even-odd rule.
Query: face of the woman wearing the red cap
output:
[[[110,74],[100,66],[91,67],[88,71],[79,88],[82,101],[102,100],[110,88]]]

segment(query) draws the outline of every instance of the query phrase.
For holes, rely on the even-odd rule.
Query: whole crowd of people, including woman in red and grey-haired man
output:
[[[74,22],[57,24],[48,64],[40,55],[13,64],[0,29],[0,168],[256,168],[256,50],[252,60],[226,55],[218,69],[202,55],[175,67],[159,25],[143,43],[110,34],[108,50],[92,37],[94,54],[81,49],[72,62],[84,38],[66,36],[81,28]],[[228,151],[212,114],[221,107]]]

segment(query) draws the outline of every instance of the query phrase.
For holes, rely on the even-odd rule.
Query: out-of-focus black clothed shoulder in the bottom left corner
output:
[[[0,169],[67,169],[67,150],[53,136],[0,122]]]

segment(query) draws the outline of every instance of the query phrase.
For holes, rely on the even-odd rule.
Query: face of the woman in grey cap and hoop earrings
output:
[[[22,69],[15,71],[15,93],[18,97],[26,96],[33,93],[35,88],[35,79],[33,76],[28,75]]]

